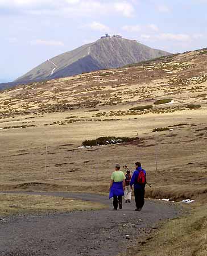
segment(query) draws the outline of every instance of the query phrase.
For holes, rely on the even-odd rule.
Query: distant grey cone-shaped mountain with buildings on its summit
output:
[[[144,46],[135,40],[103,38],[53,57],[19,77],[15,82],[51,80],[101,69],[118,68],[169,54]]]

